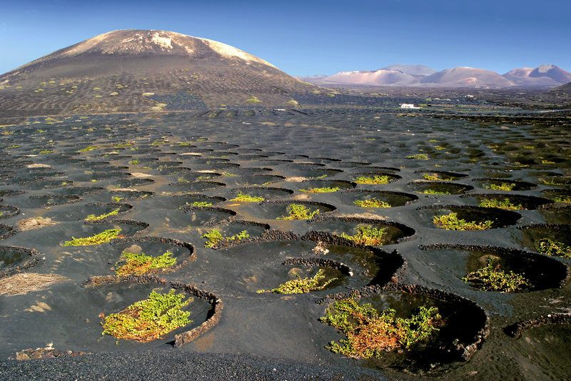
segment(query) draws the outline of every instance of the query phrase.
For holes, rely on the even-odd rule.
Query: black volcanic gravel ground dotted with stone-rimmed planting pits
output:
[[[365,108],[55,119],[1,128],[0,282],[22,279],[16,274],[29,282],[27,293],[0,294],[0,357],[49,343],[92,354],[1,360],[2,379],[537,380],[571,371],[571,362],[561,360],[571,349],[568,320],[508,335],[517,323],[570,312],[571,260],[537,253],[542,238],[571,242],[571,143],[560,123],[479,123]],[[363,176],[388,181],[355,183]],[[238,193],[265,200],[233,200]],[[355,205],[372,198],[390,207]],[[485,199],[522,208],[477,206]],[[277,219],[292,203],[320,213]],[[491,228],[437,228],[433,218],[450,212],[491,220]],[[17,228],[21,220],[31,229]],[[363,225],[385,227],[385,244],[339,237]],[[111,228],[123,236],[64,246]],[[201,236],[212,228],[226,238],[242,230],[250,237],[205,248]],[[113,279],[121,250],[161,255],[169,245],[178,250],[177,263],[185,263],[156,273],[166,282],[159,289],[168,282],[196,285],[193,323],[147,343],[116,345],[114,337],[102,337],[98,313],[118,312],[158,282],[100,284]],[[530,269],[531,288],[498,293],[465,283],[461,278],[488,255],[505,270]],[[339,279],[303,295],[256,293],[318,268]],[[63,278],[34,284],[35,274]],[[90,277],[96,278],[86,287]],[[380,359],[330,352],[328,343],[343,335],[319,317],[355,290],[363,302],[377,300],[378,308],[397,306],[400,313],[442,306],[445,326]],[[175,335],[191,330],[193,340],[174,348]]]

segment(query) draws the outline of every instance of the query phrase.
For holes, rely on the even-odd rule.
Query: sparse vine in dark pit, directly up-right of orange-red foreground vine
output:
[[[529,280],[525,278],[525,274],[500,270],[500,263],[495,264],[495,259],[491,257],[487,257],[485,268],[469,273],[462,280],[464,283],[473,283],[475,288],[480,290],[500,291],[501,293],[512,293],[531,286]]]

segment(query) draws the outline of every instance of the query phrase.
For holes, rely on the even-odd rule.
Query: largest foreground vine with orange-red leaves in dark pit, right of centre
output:
[[[380,358],[385,352],[409,348],[433,335],[443,324],[435,307],[420,306],[417,313],[408,318],[395,315],[392,308],[378,313],[370,303],[359,305],[348,298],[333,303],[320,320],[347,337],[340,342],[330,342],[329,350],[363,359]]]

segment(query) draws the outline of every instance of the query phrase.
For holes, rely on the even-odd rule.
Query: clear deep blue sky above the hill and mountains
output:
[[[571,71],[571,0],[0,0],[0,73],[116,29],[235,46],[293,76],[423,64]]]

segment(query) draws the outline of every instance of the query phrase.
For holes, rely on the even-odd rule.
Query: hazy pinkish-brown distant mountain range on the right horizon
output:
[[[447,88],[553,88],[571,81],[571,73],[555,65],[514,68],[500,75],[482,68],[456,67],[443,71],[423,65],[390,65],[373,71],[342,71],[333,76],[300,76],[302,81],[320,86],[422,86]]]

